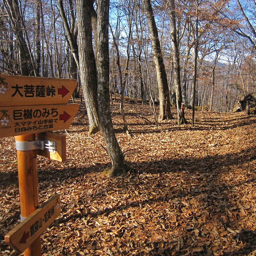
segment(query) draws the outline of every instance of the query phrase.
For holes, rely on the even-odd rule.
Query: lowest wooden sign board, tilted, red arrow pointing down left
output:
[[[24,252],[53,223],[60,215],[60,211],[60,195],[55,194],[49,201],[8,232],[4,237],[5,242],[19,253]]]

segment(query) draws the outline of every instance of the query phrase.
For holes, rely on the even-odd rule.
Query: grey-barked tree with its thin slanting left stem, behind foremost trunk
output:
[[[76,0],[77,12],[77,42],[74,28],[70,29],[63,7],[63,1],[58,0],[59,10],[64,23],[70,50],[76,61],[81,84],[83,88],[86,109],[89,119],[88,134],[96,133],[100,130],[97,115],[97,78],[96,63],[92,44],[92,0]]]

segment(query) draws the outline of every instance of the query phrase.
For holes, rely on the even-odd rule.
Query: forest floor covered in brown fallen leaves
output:
[[[256,255],[255,115],[197,110],[191,128],[185,110],[189,124],[156,127],[149,106],[125,102],[129,136],[115,102],[131,171],[110,179],[102,133],[87,135],[84,110],[68,129],[67,161],[38,157],[40,203],[58,193],[62,208],[41,235],[43,256]],[[0,255],[18,256],[4,243],[20,222],[14,138],[0,145]]]

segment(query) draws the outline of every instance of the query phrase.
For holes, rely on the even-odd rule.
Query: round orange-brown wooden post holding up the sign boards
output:
[[[16,141],[34,141],[35,134],[15,136]],[[18,174],[21,216],[28,217],[38,207],[38,176],[36,150],[19,151]],[[40,236],[24,251],[24,256],[41,256]]]

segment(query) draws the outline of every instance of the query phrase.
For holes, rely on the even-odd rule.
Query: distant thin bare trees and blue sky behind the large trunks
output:
[[[7,7],[8,2],[12,2],[11,6],[15,8]],[[63,4],[72,38],[76,41],[75,1],[59,2]],[[176,2],[182,97],[185,105],[192,105],[197,13],[196,106],[209,105],[212,110],[225,112],[231,110],[238,99],[255,92],[255,6],[255,1],[242,0]],[[0,73],[21,74],[21,54],[25,54],[32,67],[30,75],[78,78],[78,93],[75,95],[78,97],[81,94],[79,74],[58,1],[1,0],[0,7]],[[97,12],[97,2],[94,7]],[[170,98],[175,104],[168,5],[165,1],[152,1],[152,7]],[[153,99],[158,101],[155,65],[142,3],[138,0],[110,1],[109,17],[119,49],[120,65],[125,72],[124,94],[150,100],[151,89]],[[12,25],[12,19],[17,20],[16,27]],[[120,92],[120,76],[113,35],[109,32],[110,92],[115,93]],[[20,41],[24,45],[23,53],[19,51]]]

